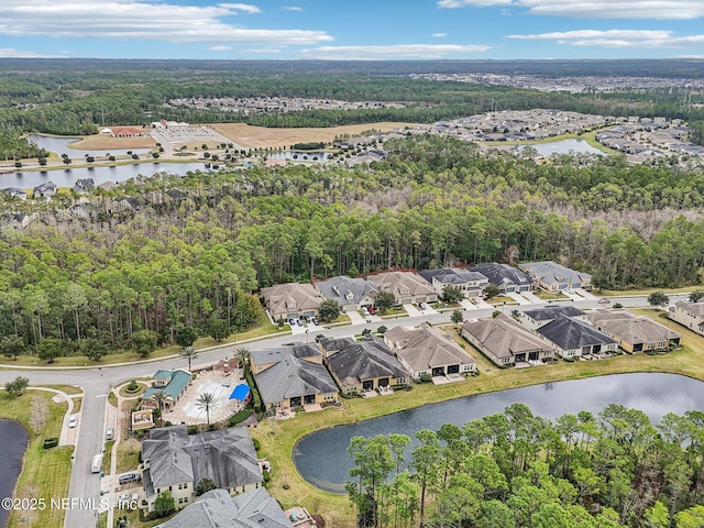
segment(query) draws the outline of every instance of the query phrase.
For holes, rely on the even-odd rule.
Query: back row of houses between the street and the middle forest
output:
[[[314,285],[278,284],[262,288],[262,297],[272,318],[278,320],[317,316],[324,299],[336,300],[343,311],[355,311],[362,306],[374,305],[380,292],[391,292],[396,305],[400,306],[435,302],[449,286],[460,289],[465,298],[481,297],[490,284],[502,294],[531,292],[537,287],[560,292],[590,288],[592,276],[552,261],[529,262],[520,264],[519,268],[494,262],[469,268],[386,272],[366,279],[337,276]]]

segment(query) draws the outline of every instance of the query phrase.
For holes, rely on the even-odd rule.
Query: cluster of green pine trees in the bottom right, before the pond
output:
[[[462,426],[354,437],[345,488],[364,528],[704,525],[704,414],[658,425],[608,405],[556,420],[524,404]]]

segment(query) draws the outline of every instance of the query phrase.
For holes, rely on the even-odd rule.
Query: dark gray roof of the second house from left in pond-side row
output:
[[[378,338],[367,336],[364,341],[353,338],[320,340],[328,352],[328,364],[339,380],[356,383],[378,377],[407,377],[408,373],[392,350]]]

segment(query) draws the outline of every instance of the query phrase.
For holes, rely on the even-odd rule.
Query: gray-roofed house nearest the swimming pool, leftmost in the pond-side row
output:
[[[250,353],[262,402],[288,408],[338,399],[338,387],[322,364],[317,344],[293,343]]]

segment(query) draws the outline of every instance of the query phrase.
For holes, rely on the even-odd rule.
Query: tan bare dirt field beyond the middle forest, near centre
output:
[[[329,129],[267,129],[264,127],[250,127],[244,123],[218,123],[210,127],[240,146],[245,148],[265,148],[267,146],[289,146],[294,143],[308,143],[314,141],[329,142],[334,140],[336,135],[360,135],[362,132],[372,129],[386,132],[393,129],[414,125],[414,123],[384,122],[350,124]]]

